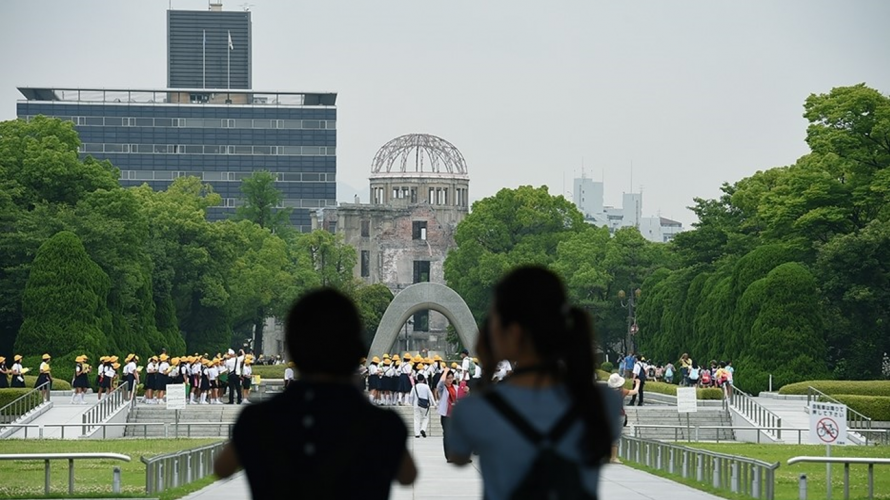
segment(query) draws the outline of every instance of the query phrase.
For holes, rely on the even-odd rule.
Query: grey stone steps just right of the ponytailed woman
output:
[[[685,441],[696,439],[696,426],[732,426],[729,413],[722,408],[699,407],[696,413],[678,413],[671,406],[625,406],[627,427],[624,433],[648,439],[663,441]],[[689,415],[687,427],[686,416]],[[637,426],[664,425],[670,427],[646,428]],[[732,429],[700,429],[700,441],[733,441]]]

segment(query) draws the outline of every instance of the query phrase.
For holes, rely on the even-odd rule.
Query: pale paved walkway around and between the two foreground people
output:
[[[478,462],[454,467],[442,456],[442,438],[409,438],[408,446],[417,462],[417,481],[411,486],[393,485],[392,500],[481,499],[482,476]],[[247,478],[239,472],[184,497],[188,500],[235,500],[250,498]],[[625,465],[606,465],[600,476],[599,498],[652,500],[719,500],[703,491],[653,476]]]

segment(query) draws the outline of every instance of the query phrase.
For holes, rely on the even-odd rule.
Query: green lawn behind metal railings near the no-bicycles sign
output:
[[[824,498],[826,493],[826,470],[824,464],[788,465],[788,459],[797,456],[825,456],[825,447],[821,445],[781,445],[753,443],[682,443],[690,448],[700,448],[728,455],[756,458],[764,462],[779,462],[776,470],[776,500],[797,500],[798,480],[801,474],[807,475],[809,498]],[[890,458],[890,447],[887,446],[834,446],[831,455],[836,457]],[[627,462],[626,462],[627,463]],[[633,467],[652,472],[650,469],[628,463]],[[654,473],[654,472],[653,472]],[[658,475],[669,477],[695,488],[715,493],[708,485],[695,481],[682,481],[678,477],[663,473]],[[843,498],[844,467],[832,465],[832,496]],[[890,466],[875,466],[875,498],[890,498]],[[740,498],[728,492],[720,492],[726,498]],[[850,498],[868,498],[868,466],[853,465],[850,467]]]

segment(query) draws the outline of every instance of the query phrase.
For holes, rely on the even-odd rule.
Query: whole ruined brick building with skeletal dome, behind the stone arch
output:
[[[454,229],[469,210],[463,155],[436,136],[410,134],[386,143],[371,167],[371,202],[318,210],[313,229],[340,234],[356,249],[355,276],[393,292],[414,283],[445,284],[443,264]],[[448,321],[421,311],[403,327],[402,350],[445,350]]]

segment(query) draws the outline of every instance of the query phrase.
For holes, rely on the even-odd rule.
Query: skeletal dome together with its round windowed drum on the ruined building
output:
[[[371,162],[371,203],[429,204],[466,212],[470,177],[454,144],[429,134],[408,134],[384,144]]]

